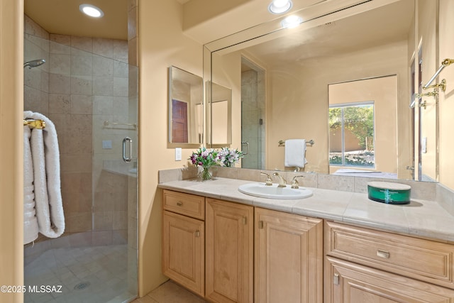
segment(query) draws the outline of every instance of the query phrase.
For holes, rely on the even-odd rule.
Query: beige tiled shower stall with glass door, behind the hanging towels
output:
[[[27,16],[24,28],[24,110],[55,124],[65,214],[62,236],[39,235],[24,246],[24,280],[36,290],[24,301],[131,301],[138,69],[128,65],[128,42],[53,35]]]

